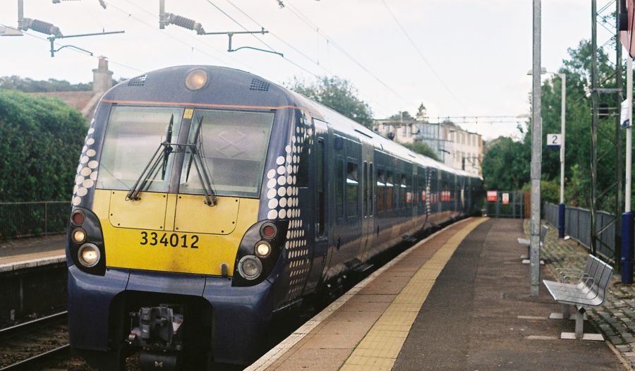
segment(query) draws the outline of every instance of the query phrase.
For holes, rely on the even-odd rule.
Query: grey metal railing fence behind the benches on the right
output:
[[[545,203],[544,210],[545,219],[557,228],[558,205]],[[591,211],[580,207],[566,207],[564,210],[564,233],[590,250]],[[607,212],[598,212],[595,231],[599,240],[598,254],[615,262],[615,217]]]

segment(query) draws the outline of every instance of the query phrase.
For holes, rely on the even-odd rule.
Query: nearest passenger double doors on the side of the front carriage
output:
[[[373,163],[375,147],[372,143],[362,143],[362,218],[361,218],[361,260],[365,261],[366,253],[372,250],[375,239],[375,164]]]

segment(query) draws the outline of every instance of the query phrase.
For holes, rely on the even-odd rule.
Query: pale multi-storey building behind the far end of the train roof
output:
[[[483,138],[452,122],[430,123],[423,116],[409,120],[376,120],[373,130],[399,143],[424,142],[444,164],[483,175]]]

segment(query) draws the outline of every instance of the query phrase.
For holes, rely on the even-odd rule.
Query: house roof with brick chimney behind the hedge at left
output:
[[[97,102],[112,87],[112,71],[108,69],[108,60],[105,56],[99,57],[97,68],[92,70],[92,91],[85,92],[37,92],[34,95],[55,97],[69,106],[77,109],[90,121],[95,114]]]

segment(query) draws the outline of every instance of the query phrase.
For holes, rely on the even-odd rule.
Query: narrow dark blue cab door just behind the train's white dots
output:
[[[310,157],[311,164],[310,169],[313,180],[310,184],[315,189],[315,195],[313,200],[313,224],[315,231],[315,241],[313,243],[313,257],[311,258],[311,268],[309,277],[305,286],[305,291],[312,291],[320,281],[322,272],[327,268],[326,262],[328,261],[328,249],[329,249],[329,161],[330,148],[332,145],[328,145],[328,139],[332,138],[329,135],[331,130],[327,123],[317,119],[313,119],[313,126],[315,128],[315,141],[313,143],[312,153],[315,156]]]

